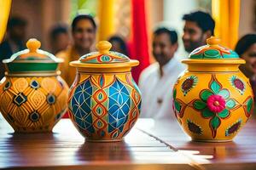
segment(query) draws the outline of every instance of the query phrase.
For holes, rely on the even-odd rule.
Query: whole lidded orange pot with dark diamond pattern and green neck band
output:
[[[28,49],[4,59],[0,111],[15,133],[50,132],[67,111],[67,83],[57,71],[61,59],[40,50],[30,39]]]

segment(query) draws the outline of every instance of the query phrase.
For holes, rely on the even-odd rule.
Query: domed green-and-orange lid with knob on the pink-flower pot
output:
[[[220,45],[218,37],[210,37],[207,39],[207,45],[196,48],[189,59],[239,59],[238,54],[229,48]]]

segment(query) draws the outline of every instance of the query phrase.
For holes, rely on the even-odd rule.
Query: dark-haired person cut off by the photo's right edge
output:
[[[240,70],[249,78],[256,97],[256,34],[247,34],[236,43],[236,53],[241,59],[246,60],[245,65],[240,66]]]

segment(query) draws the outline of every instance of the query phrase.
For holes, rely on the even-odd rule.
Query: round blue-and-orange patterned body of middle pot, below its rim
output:
[[[118,140],[131,130],[140,113],[141,96],[131,73],[79,74],[68,109],[87,139]]]

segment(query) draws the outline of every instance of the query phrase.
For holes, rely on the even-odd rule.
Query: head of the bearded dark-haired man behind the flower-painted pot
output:
[[[195,48],[207,44],[207,38],[214,35],[215,21],[210,14],[195,11],[184,14],[183,45],[186,52],[191,53]]]

